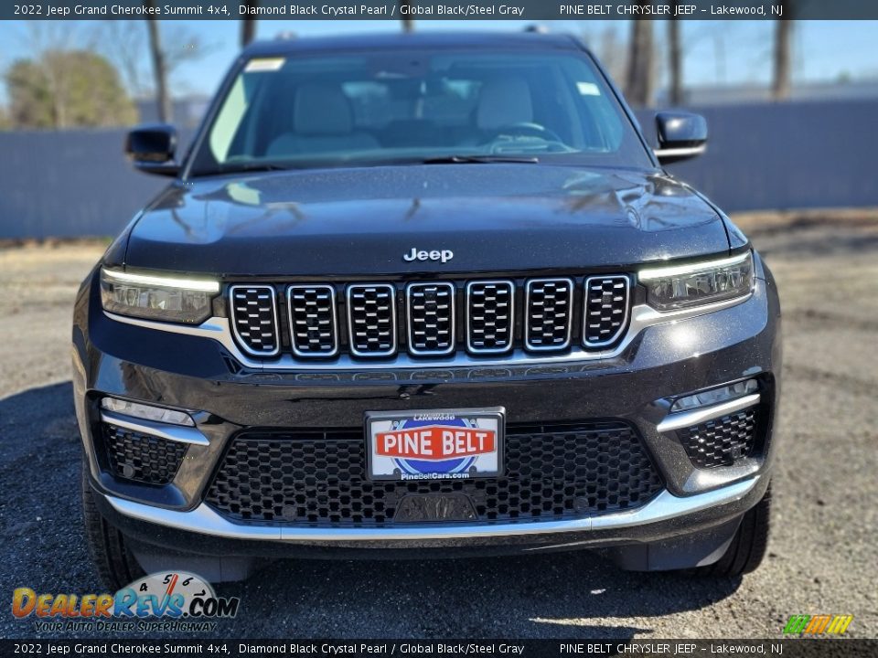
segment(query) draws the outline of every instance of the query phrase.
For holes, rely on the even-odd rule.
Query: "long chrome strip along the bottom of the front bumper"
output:
[[[282,525],[233,524],[219,515],[207,504],[199,504],[191,512],[180,512],[154,507],[143,503],[103,494],[116,512],[140,521],[195,532],[202,535],[229,537],[233,539],[266,539],[274,541],[346,542],[346,541],[394,541],[414,539],[466,539],[468,537],[545,535],[550,533],[583,532],[626,528],[667,521],[678,516],[690,515],[722,504],[741,500],[755,487],[758,475],[749,480],[729,484],[707,493],[697,493],[685,498],[668,491],[659,493],[648,504],[637,510],[610,515],[585,516],[562,521],[522,521],[500,524],[433,524],[392,525],[369,528],[327,528]]]

